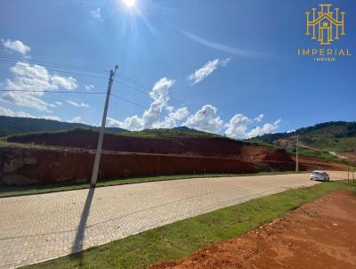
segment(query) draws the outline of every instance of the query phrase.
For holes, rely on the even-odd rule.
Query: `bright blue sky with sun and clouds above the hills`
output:
[[[346,12],[346,35],[323,47],[356,53],[356,3],[328,3]],[[130,8],[124,0],[4,0],[0,55],[17,60],[0,59],[0,88],[102,92],[107,79],[98,77],[109,74],[82,77],[36,61],[105,70],[117,64],[113,93],[147,109],[112,97],[108,126],[184,124],[243,138],[355,120],[354,56],[318,63],[296,55],[297,48],[321,47],[304,35],[304,12],[318,4],[136,0]],[[3,93],[0,113],[99,125],[104,97]]]

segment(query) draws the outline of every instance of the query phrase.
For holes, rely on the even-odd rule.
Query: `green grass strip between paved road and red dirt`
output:
[[[356,185],[320,183],[309,188],[280,192],[27,268],[145,268],[189,256],[214,242],[238,237],[336,189],[356,192]]]

